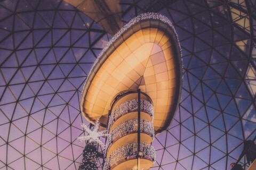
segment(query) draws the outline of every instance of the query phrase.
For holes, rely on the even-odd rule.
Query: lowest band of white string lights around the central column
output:
[[[142,159],[151,160],[153,163],[155,162],[156,152],[153,146],[148,143],[141,142],[140,152],[142,152]],[[127,143],[126,145],[116,149],[109,157],[106,158],[103,170],[108,170],[110,167],[113,168],[113,166],[125,162],[126,160],[136,159],[137,154],[138,143]]]

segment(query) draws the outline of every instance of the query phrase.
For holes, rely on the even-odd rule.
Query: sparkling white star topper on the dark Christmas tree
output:
[[[88,133],[88,135],[85,135],[83,137],[78,137],[77,139],[81,142],[83,141],[89,141],[98,143],[103,149],[105,148],[104,143],[99,139],[100,137],[106,137],[106,130],[105,131],[99,131],[99,120],[96,121],[95,125],[92,129],[90,129],[86,124],[82,123],[81,126],[84,128],[84,131]]]

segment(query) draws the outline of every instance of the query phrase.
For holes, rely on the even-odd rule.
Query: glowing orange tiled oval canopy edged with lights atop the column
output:
[[[107,124],[111,100],[121,91],[141,89],[153,101],[154,127],[170,124],[181,91],[181,54],[177,34],[162,15],[132,19],[114,36],[86,79],[81,111],[90,122]]]

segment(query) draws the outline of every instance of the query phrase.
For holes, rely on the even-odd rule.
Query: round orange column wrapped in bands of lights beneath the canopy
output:
[[[148,95],[139,90],[116,95],[111,103],[107,130],[104,169],[141,170],[153,166],[155,149],[151,142],[155,132],[153,104]]]

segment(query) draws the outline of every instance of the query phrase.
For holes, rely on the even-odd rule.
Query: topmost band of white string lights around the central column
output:
[[[109,116],[107,131],[109,132],[111,125],[119,117],[121,117],[127,113],[137,112],[137,111],[138,111],[138,99],[127,100],[124,103],[122,103],[121,105],[117,106],[115,111],[113,113],[111,113],[111,115]],[[151,116],[152,121],[153,121],[154,109],[153,109],[153,105],[148,100],[140,99],[140,111],[148,113]]]

